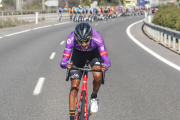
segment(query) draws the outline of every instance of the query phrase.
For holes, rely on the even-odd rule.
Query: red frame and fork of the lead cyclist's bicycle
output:
[[[81,102],[81,96],[82,96],[82,92],[85,91],[86,93],[86,120],[88,119],[88,91],[87,91],[87,79],[88,79],[88,73],[85,72],[84,75],[83,75],[83,84],[82,84],[82,88],[81,88],[81,92],[80,92],[80,95],[79,95],[79,102],[78,102],[78,109],[77,109],[77,112],[76,112],[76,120],[78,120],[78,113],[79,113],[79,108],[80,108],[80,102]],[[83,111],[81,111],[83,112]],[[83,113],[84,114],[84,113]]]

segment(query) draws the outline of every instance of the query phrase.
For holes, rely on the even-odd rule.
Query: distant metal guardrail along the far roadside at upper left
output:
[[[45,13],[57,13],[57,9],[47,9],[47,10],[22,10],[22,11],[0,11],[0,15],[21,15],[22,14],[36,14],[36,12],[45,14]],[[63,10],[63,12],[68,12],[68,10]]]

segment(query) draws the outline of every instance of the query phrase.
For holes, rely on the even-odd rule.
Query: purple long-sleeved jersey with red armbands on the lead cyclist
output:
[[[98,47],[100,56],[103,59],[104,64],[105,64],[106,71],[108,70],[108,67],[110,67],[111,62],[108,58],[108,54],[107,54],[106,47],[104,45],[103,37],[94,28],[92,28],[92,30],[93,30],[93,34],[92,34],[92,38],[91,38],[91,41],[87,50],[83,50],[81,48],[81,46],[78,44],[78,41],[75,39],[74,31],[71,32],[71,34],[69,35],[66,41],[66,47],[64,49],[63,58],[60,63],[60,66],[62,68],[67,68],[69,64],[68,60],[71,57],[73,48],[76,48],[80,51],[92,51],[93,49]]]

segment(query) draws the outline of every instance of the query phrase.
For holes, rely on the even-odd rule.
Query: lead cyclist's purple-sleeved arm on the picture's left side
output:
[[[60,63],[61,68],[67,68],[69,64],[68,60],[71,57],[73,47],[74,47],[74,31],[69,35],[66,41],[66,47],[64,49],[63,57]]]

